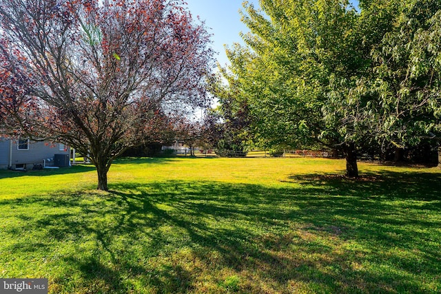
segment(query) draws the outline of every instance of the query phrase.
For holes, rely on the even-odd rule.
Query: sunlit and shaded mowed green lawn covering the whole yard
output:
[[[309,158],[0,172],[0,277],[50,293],[440,293],[441,172]]]

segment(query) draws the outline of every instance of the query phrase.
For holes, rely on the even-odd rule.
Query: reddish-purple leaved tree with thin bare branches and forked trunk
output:
[[[1,0],[4,130],[90,154],[98,189],[107,189],[116,156],[161,121],[207,105],[209,35],[183,5]]]

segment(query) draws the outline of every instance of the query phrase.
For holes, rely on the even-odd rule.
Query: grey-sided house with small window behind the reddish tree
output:
[[[0,169],[70,165],[70,147],[62,143],[0,137]]]

